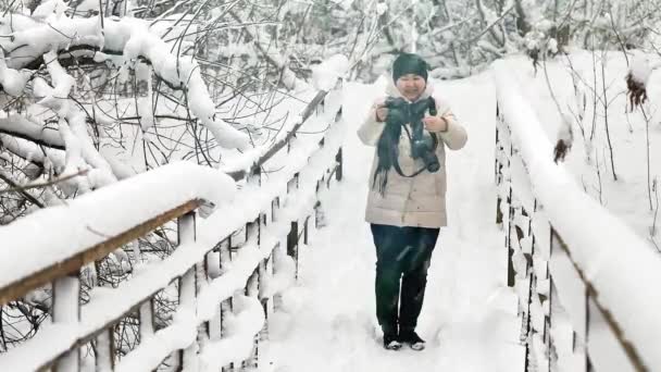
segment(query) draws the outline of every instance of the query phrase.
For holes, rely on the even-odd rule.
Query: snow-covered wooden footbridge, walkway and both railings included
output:
[[[437,86],[470,140],[449,158],[450,226],[420,325],[429,347],[381,348],[362,220],[372,149],[353,132],[382,83],[321,91],[244,169],[175,163],[0,227],[0,306],[52,294],[52,321],[0,354],[0,371],[661,371],[658,256],[553,164],[499,65]],[[95,262],[173,221],[170,256],[80,298]],[[163,293],[176,308],[154,324]],[[120,354],[127,318],[139,334]]]

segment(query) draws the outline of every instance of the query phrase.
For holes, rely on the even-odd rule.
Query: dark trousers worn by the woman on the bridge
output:
[[[376,246],[376,319],[384,333],[413,330],[438,228],[372,224]],[[400,286],[401,281],[401,286]],[[401,305],[400,305],[401,288]]]

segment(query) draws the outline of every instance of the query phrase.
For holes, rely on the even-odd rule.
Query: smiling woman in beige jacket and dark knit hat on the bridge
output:
[[[388,97],[402,98],[410,108],[432,97],[427,63],[416,54],[402,53],[395,60],[392,83]],[[365,220],[376,246],[376,318],[384,332],[384,347],[390,350],[402,344],[415,350],[425,347],[415,326],[432,251],[439,227],[447,223],[445,147],[459,150],[467,138],[447,104],[434,101],[436,110],[429,111],[436,114],[427,111],[422,123],[424,134],[433,138],[432,151],[440,164],[437,172],[431,173],[420,157],[412,157],[412,123],[388,120],[386,99],[377,100],[358,131],[365,145],[376,147]],[[414,120],[411,109],[398,111],[397,117]]]

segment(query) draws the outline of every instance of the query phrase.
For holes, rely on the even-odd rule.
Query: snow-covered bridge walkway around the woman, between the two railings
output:
[[[449,226],[436,247],[419,333],[422,352],[384,350],[375,319],[375,252],[364,208],[373,148],[356,129],[384,89],[347,84],[345,178],[324,196],[327,226],[301,250],[300,280],[284,295],[262,348],[264,371],[522,371],[516,299],[507,288],[507,252],[495,224],[495,89],[488,74],[437,83],[466,126],[469,142],[450,152]]]

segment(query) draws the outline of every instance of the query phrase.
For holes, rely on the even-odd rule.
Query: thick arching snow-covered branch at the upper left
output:
[[[190,57],[176,55],[171,47],[149,29],[149,23],[135,18],[105,18],[101,27],[99,16],[61,18],[49,24],[12,14],[0,21],[0,33],[11,34],[9,42],[0,42],[8,50],[8,66],[21,69],[43,58],[51,49],[65,51],[71,47],[89,47],[95,61],[116,61],[111,53],[121,52],[121,69],[134,69],[138,58],[152,65],[154,73],[171,87],[185,91],[187,102],[201,123],[225,148],[245,149],[248,136],[225,123],[215,114],[207,84],[197,62]]]

